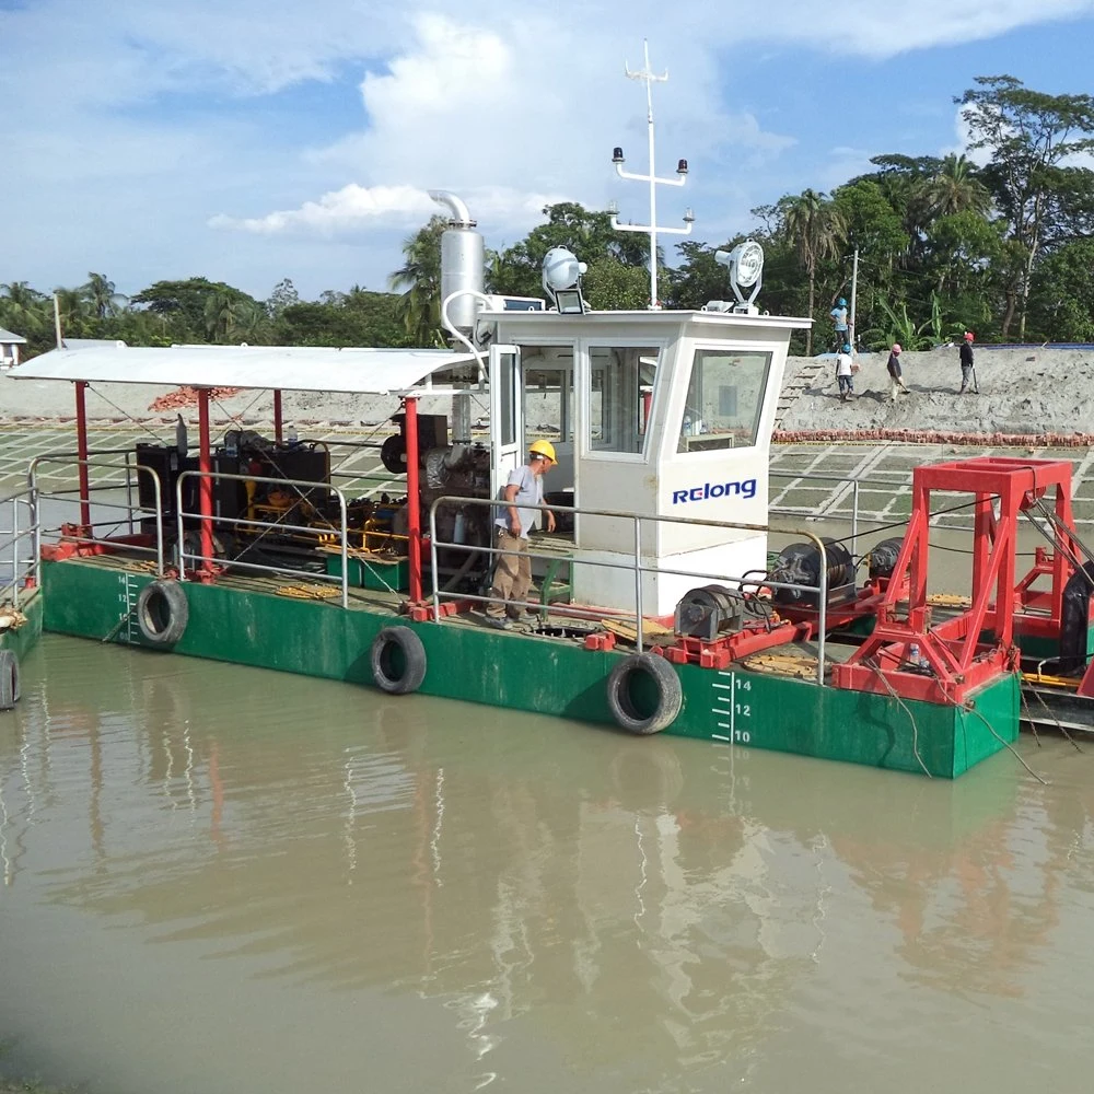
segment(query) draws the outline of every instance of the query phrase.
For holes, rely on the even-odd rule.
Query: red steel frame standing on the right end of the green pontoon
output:
[[[964,702],[969,693],[1013,672],[1019,664],[1014,636],[1059,637],[1063,586],[1075,557],[1071,513],[1071,463],[1067,459],[1014,459],[981,456],[917,467],[908,533],[873,632],[841,665],[833,668],[836,687],[897,695],[933,702]],[[1055,515],[1063,529],[1051,555],[1038,551],[1031,572],[1015,580],[1017,524],[1023,510],[1056,487]],[[966,612],[931,624],[928,559],[931,491],[974,494],[973,589]],[[994,505],[998,504],[998,516]],[[1048,593],[1034,581],[1051,574]],[[906,609],[900,604],[907,597]],[[1027,615],[1036,608],[1038,615]],[[985,632],[991,638],[985,640]],[[911,645],[919,648],[921,671],[908,671]],[[929,671],[927,671],[929,670]]]

